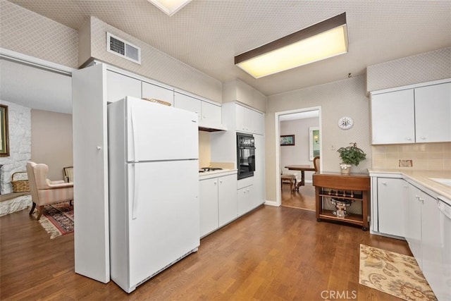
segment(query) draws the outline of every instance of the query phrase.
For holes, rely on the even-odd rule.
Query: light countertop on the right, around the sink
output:
[[[439,195],[451,199],[451,187],[443,183],[438,183],[431,178],[451,179],[450,171],[421,171],[407,169],[385,169],[385,168],[369,168],[370,176],[381,176],[381,174],[399,174],[402,178],[409,178],[416,183],[423,185],[425,188],[437,192]]]

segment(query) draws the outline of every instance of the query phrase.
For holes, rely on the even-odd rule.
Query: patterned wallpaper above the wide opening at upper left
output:
[[[78,68],[78,32],[0,0],[0,47]]]

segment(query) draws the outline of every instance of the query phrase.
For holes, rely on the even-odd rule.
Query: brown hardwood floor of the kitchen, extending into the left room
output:
[[[402,240],[261,206],[127,294],[75,274],[73,234],[50,240],[27,210],[2,216],[0,226],[1,300],[322,300],[331,291],[393,300],[359,285],[359,244],[410,255]]]

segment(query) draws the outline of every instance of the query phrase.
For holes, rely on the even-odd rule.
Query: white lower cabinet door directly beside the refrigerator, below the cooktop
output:
[[[218,178],[199,182],[200,237],[218,228]]]

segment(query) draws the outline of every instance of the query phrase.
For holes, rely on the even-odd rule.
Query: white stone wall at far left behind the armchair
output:
[[[8,106],[9,156],[0,157],[0,165],[3,165],[0,192],[4,195],[13,192],[11,175],[26,171],[25,164],[31,160],[31,110],[3,100],[0,103]],[[26,178],[25,174],[23,176]]]

